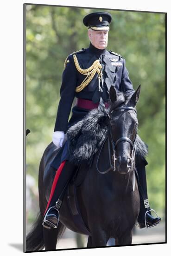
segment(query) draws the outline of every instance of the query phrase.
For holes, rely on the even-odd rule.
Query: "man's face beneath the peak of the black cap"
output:
[[[104,49],[108,45],[108,31],[88,30],[89,40],[97,49]]]

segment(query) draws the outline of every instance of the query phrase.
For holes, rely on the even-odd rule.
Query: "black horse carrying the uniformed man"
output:
[[[81,164],[79,171],[85,171],[86,168],[87,174],[77,187],[77,196],[82,218],[91,233],[87,247],[106,246],[108,239],[112,237],[115,238],[115,245],[132,243],[133,227],[140,209],[139,189],[134,171],[135,155],[141,154],[142,142],[137,135],[138,120],[135,109],[139,92],[140,86],[132,96],[118,94],[111,87],[111,106],[103,118],[107,128],[106,138],[101,141],[101,146],[94,154],[91,166],[87,168],[86,164]],[[45,229],[42,226],[54,179],[54,175],[49,175],[44,181],[44,172],[57,154],[55,148],[51,143],[45,149],[40,162],[40,214],[32,231],[27,235],[26,251],[41,250],[44,246],[46,250],[56,249],[57,240],[66,227],[80,233],[70,216],[66,194],[60,208],[57,229]]]

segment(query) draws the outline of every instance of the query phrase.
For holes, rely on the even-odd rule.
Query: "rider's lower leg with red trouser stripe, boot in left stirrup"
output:
[[[63,163],[62,163],[63,164]],[[58,168],[57,172],[60,171],[61,166]],[[44,221],[42,225],[44,228],[51,229],[57,228],[59,222],[59,208],[62,201],[59,199],[60,195],[63,194],[66,189],[66,185],[70,181],[71,177],[76,171],[76,165],[66,161],[62,167],[61,173],[56,173],[54,182],[51,187],[51,195],[49,199],[49,206],[44,213]],[[57,181],[57,175],[59,175]]]

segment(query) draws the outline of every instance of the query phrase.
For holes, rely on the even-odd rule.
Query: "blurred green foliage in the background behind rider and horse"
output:
[[[65,58],[89,47],[82,18],[98,9],[26,6],[27,172],[36,179],[51,142]],[[126,59],[137,105],[139,135],[149,146],[148,194],[151,207],[165,210],[165,14],[109,11],[113,16],[108,49]]]

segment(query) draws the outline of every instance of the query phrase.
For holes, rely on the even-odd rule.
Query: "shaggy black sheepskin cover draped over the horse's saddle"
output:
[[[79,165],[89,164],[92,157],[108,136],[108,109],[93,109],[81,121],[71,126],[67,131],[69,141],[70,161]],[[136,155],[145,157],[148,154],[147,145],[137,136]]]

